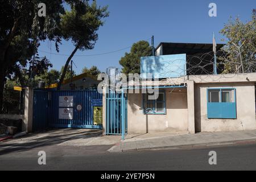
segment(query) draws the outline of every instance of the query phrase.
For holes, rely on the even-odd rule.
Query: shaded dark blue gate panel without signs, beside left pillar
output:
[[[42,130],[48,126],[48,92],[34,90],[32,131]]]

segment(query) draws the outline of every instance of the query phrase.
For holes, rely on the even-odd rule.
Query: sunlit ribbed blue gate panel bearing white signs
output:
[[[59,106],[60,96],[73,96],[73,106],[67,107],[72,110],[72,119],[59,118],[60,110],[65,109],[65,107]],[[102,129],[102,125],[93,123],[94,103],[97,103],[97,106],[102,106],[102,94],[97,90],[49,91],[49,126]]]

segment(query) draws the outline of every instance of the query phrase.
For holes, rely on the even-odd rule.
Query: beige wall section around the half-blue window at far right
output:
[[[207,88],[236,88],[237,119],[207,118]],[[200,131],[255,130],[254,82],[195,84],[195,128]]]

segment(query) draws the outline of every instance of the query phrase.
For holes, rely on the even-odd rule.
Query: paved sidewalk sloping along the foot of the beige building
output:
[[[143,136],[143,135],[141,135]],[[233,144],[238,141],[256,140],[256,130],[203,132],[197,134],[170,135],[164,137],[156,133],[147,137],[125,139],[110,148],[109,152],[144,150],[156,148],[180,148],[184,146],[212,146],[218,144]]]

